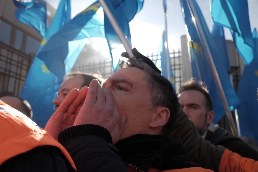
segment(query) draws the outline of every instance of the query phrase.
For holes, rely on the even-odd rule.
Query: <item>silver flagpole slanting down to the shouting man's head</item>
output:
[[[102,6],[105,14],[107,15],[107,18],[110,21],[110,24],[112,25],[114,31],[116,32],[116,35],[118,36],[118,38],[122,42],[129,58],[132,58],[134,56],[134,54],[132,53],[132,48],[129,45],[128,41],[126,40],[122,29],[120,28],[119,24],[116,21],[116,18],[114,17],[112,12],[110,11],[110,9],[107,6],[107,3],[105,2],[105,0],[99,0],[99,3]]]

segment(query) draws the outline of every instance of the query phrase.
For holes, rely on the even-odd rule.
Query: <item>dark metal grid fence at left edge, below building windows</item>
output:
[[[0,92],[19,95],[33,56],[0,42]]]

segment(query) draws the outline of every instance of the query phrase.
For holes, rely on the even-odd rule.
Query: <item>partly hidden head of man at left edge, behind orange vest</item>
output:
[[[11,107],[17,109],[18,111],[22,112],[30,119],[32,119],[32,115],[33,115],[32,108],[30,106],[30,103],[27,100],[24,100],[21,97],[15,96],[9,92],[0,93],[0,100],[10,105]]]

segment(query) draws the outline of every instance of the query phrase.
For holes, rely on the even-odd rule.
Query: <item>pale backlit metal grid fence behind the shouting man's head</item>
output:
[[[170,60],[172,64],[173,74],[175,77],[176,88],[182,83],[182,52],[180,50],[170,52]],[[147,57],[150,58],[154,63],[159,59],[159,55],[147,54]],[[74,66],[72,71],[81,71],[86,73],[98,73],[100,72],[104,78],[110,77],[113,73],[112,62],[111,61],[99,61],[99,62],[90,62],[88,64],[79,64]]]

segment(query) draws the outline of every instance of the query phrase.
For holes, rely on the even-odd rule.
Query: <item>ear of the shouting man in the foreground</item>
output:
[[[155,114],[150,122],[151,128],[163,127],[167,124],[170,117],[170,111],[167,107],[156,107]]]

